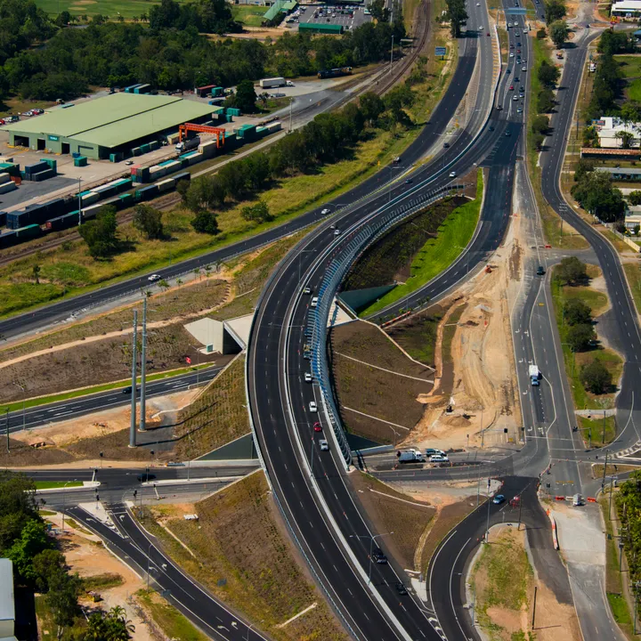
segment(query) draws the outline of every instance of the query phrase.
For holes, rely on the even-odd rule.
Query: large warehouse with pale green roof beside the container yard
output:
[[[63,105],[5,126],[9,144],[57,154],[78,153],[97,160],[128,152],[186,122],[211,118],[206,103],[177,96],[112,93],[104,98]]]

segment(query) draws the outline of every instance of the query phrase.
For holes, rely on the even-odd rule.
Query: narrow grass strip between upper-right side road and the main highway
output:
[[[531,2],[526,3],[528,9],[533,6]],[[541,170],[538,166],[539,151],[537,151],[534,144],[534,134],[531,126],[539,115],[537,110],[537,98],[541,90],[539,80],[539,68],[541,62],[544,60],[550,61],[550,53],[552,46],[549,41],[540,40],[536,37],[536,32],[529,32],[530,42],[532,45],[532,59],[528,65],[528,75],[530,77],[530,96],[527,110],[527,164],[528,174],[530,174],[531,185],[534,191],[534,197],[539,207],[541,225],[545,239],[550,245],[555,247],[565,247],[567,249],[580,249],[588,247],[588,242],[583,239],[580,234],[569,228],[567,225],[561,224],[561,218],[556,214],[555,210],[548,205],[546,199],[543,198],[541,192]],[[546,142],[543,143],[544,145]]]

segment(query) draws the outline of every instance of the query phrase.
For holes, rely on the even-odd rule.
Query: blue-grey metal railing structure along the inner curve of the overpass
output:
[[[418,196],[416,199],[402,204],[401,207],[394,208],[393,211],[385,215],[381,220],[374,221],[374,223],[366,226],[354,236],[347,247],[343,248],[341,256],[332,261],[321,283],[318,291],[318,304],[313,308],[313,313],[309,315],[307,321],[308,328],[312,330],[312,372],[321,388],[329,422],[331,423],[334,434],[336,434],[338,445],[347,465],[352,462],[352,452],[347,443],[345,429],[341,423],[340,414],[334,401],[326,351],[329,312],[334,302],[334,297],[337,294],[338,287],[344,280],[347,271],[363,252],[371,244],[376,242],[377,239],[384,236],[392,227],[400,223],[404,218],[416,214],[421,209],[444,198],[451,191],[458,191],[463,188],[463,185],[455,185],[429,191],[426,194]],[[332,324],[335,320],[336,312],[332,319]]]

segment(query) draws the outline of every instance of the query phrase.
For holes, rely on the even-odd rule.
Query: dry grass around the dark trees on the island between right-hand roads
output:
[[[598,271],[598,268],[588,265],[588,274],[590,276],[596,275],[597,272],[600,273]],[[580,382],[580,369],[583,365],[588,364],[593,359],[596,361],[601,361],[612,374],[613,383],[614,385],[616,385],[616,381],[619,379],[619,377],[621,377],[621,357],[617,353],[614,353],[612,350],[601,347],[596,347],[595,349],[589,350],[588,352],[573,353],[570,349],[570,346],[567,345],[567,335],[569,327],[564,323],[563,318],[564,301],[571,298],[580,299],[585,304],[588,304],[588,306],[592,310],[592,317],[596,318],[607,308],[607,296],[605,296],[601,292],[596,291],[595,289],[589,288],[588,286],[562,287],[559,284],[558,280],[556,280],[556,278],[554,277],[554,272],[551,284],[556,326],[561,337],[561,347],[564,353],[565,374],[570,381],[572,396],[574,398],[574,407],[578,410],[604,410],[612,408],[614,402],[614,394],[611,393],[595,395],[589,393]],[[586,426],[586,429],[588,429],[588,427],[590,427],[589,424]],[[607,431],[608,430],[606,429],[606,432]],[[613,430],[611,430],[610,432],[611,436],[613,436]],[[593,432],[593,442],[595,440],[595,435],[596,434]]]

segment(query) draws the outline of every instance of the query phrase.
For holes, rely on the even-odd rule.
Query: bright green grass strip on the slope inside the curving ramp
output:
[[[448,215],[439,227],[436,238],[429,239],[412,261],[410,278],[403,285],[385,294],[375,304],[370,305],[360,315],[367,317],[382,310],[388,304],[408,296],[454,263],[474,235],[482,200],[483,171],[479,170],[476,175],[475,200],[457,207]]]

